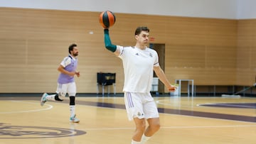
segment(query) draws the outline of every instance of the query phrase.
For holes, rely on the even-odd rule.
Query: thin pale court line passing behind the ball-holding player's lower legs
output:
[[[183,129],[183,128],[245,128],[256,127],[256,125],[229,125],[229,126],[161,126],[160,129]],[[86,128],[84,131],[108,131],[108,130],[130,130],[134,127],[120,127],[120,128]]]

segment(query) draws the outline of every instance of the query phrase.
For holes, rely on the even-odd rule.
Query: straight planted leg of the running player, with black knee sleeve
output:
[[[70,122],[78,123],[80,120],[75,117],[75,82],[68,84],[68,96],[70,98]]]

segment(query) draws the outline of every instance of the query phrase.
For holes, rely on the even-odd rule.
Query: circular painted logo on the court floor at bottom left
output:
[[[0,139],[3,138],[60,138],[68,136],[84,135],[85,131],[71,128],[53,128],[43,126],[10,126],[0,123]]]

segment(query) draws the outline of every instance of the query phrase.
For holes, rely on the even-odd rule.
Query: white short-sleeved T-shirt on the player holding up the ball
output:
[[[154,67],[159,66],[155,50],[117,46],[124,67],[124,92],[150,92]]]

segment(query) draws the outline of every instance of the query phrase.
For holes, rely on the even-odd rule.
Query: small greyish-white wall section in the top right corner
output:
[[[255,0],[238,0],[238,19],[256,18]]]

